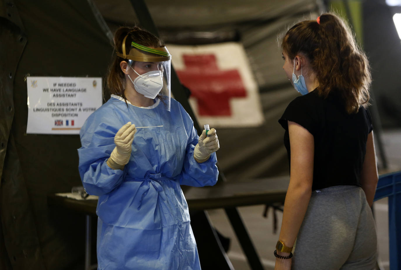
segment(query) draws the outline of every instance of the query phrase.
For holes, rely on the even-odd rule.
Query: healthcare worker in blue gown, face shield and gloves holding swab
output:
[[[216,130],[198,137],[170,98],[171,55],[154,35],[121,27],[107,84],[111,98],[80,136],[79,173],[98,195],[98,269],[200,269],[180,185],[217,181]]]

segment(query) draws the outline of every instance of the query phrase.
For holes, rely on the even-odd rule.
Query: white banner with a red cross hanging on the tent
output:
[[[259,89],[242,44],[166,46],[181,83],[191,91],[190,105],[201,126],[263,123]]]

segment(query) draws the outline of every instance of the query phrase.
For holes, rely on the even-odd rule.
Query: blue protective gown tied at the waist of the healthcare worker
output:
[[[106,160],[115,133],[127,122],[137,127],[124,171]],[[214,185],[216,154],[197,163],[198,135],[184,108],[171,100],[136,107],[117,96],[92,113],[80,132],[79,173],[89,194],[98,195],[98,269],[201,269],[180,185]]]

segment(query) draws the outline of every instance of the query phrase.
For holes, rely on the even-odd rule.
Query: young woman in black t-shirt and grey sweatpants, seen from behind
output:
[[[275,269],[374,269],[370,207],[378,175],[366,110],[367,58],[346,24],[330,13],[290,28],[282,54],[283,69],[302,96],[279,119],[290,185]]]

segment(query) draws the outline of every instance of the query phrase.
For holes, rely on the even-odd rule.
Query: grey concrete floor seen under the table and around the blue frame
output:
[[[388,169],[381,169],[379,174],[401,170],[401,129],[383,131],[382,141],[385,155],[387,157]],[[379,147],[377,146],[376,151],[379,151]],[[378,164],[381,166],[380,159],[378,160]],[[276,211],[277,233],[273,233],[273,212],[271,209],[269,209],[269,212],[267,213],[267,218],[262,216],[264,211],[263,205],[240,207],[238,209],[265,270],[273,270],[275,262],[273,251],[278,239],[282,213]],[[231,246],[227,254],[235,270],[251,270],[224,210],[218,209],[210,210],[208,212],[213,225],[219,230],[219,232],[224,236],[231,238]],[[379,263],[383,270],[389,270],[387,198],[375,202],[374,215],[378,235]]]

